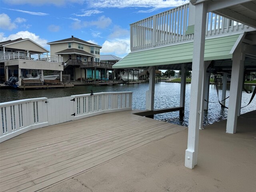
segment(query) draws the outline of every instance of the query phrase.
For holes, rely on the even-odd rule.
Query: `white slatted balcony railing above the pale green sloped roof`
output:
[[[131,51],[192,41],[194,26],[188,26],[191,19],[194,20],[194,16],[190,15],[189,4],[185,4],[131,24]],[[206,36],[218,36],[249,28],[211,12],[207,13],[206,21]]]

